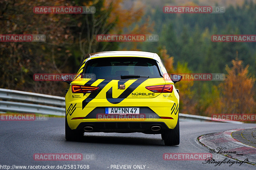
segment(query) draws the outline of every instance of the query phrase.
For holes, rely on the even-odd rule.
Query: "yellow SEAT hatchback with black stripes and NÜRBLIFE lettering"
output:
[[[66,93],[66,140],[84,132],[161,134],[180,143],[179,90],[156,53],[107,51],[85,56]],[[167,78],[166,78],[167,77]]]

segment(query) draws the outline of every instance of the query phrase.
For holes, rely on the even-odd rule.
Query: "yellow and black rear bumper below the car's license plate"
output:
[[[174,107],[172,110],[174,110]],[[105,107],[96,107],[86,116],[72,117],[68,120],[68,125],[71,129],[77,130],[82,130],[85,126],[92,125],[94,126],[93,132],[125,133],[151,130],[151,126],[154,124],[159,125],[161,130],[165,128],[174,129],[178,120],[178,111],[172,115],[165,114],[160,117],[149,107],[140,107],[139,115],[108,115],[104,114],[104,112]]]

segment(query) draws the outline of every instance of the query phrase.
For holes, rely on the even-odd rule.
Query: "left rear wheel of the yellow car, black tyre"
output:
[[[68,126],[67,116],[65,117],[65,137],[67,141],[82,140],[84,132],[80,130],[72,130]]]

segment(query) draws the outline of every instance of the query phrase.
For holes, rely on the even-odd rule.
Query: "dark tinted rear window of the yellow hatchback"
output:
[[[121,75],[140,75],[161,78],[156,60],[142,57],[106,57],[91,59],[86,64],[86,74],[96,78],[120,79]]]

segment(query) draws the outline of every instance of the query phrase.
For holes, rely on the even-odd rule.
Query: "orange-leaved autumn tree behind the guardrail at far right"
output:
[[[224,82],[215,87],[215,94],[219,96],[207,109],[208,115],[255,113],[255,78],[248,74],[249,65],[244,68],[242,63],[236,58],[232,60],[232,68],[226,66],[228,74]]]

